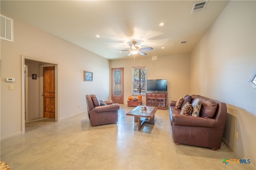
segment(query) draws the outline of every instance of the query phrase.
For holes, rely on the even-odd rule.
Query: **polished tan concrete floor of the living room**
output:
[[[117,124],[91,127],[87,113],[55,123],[26,123],[26,133],[1,142],[1,160],[12,170],[166,169],[242,170],[248,164],[222,163],[239,159],[222,143],[219,150],[175,145],[168,110],[158,109],[155,125],[138,131],[134,107],[120,105]]]

